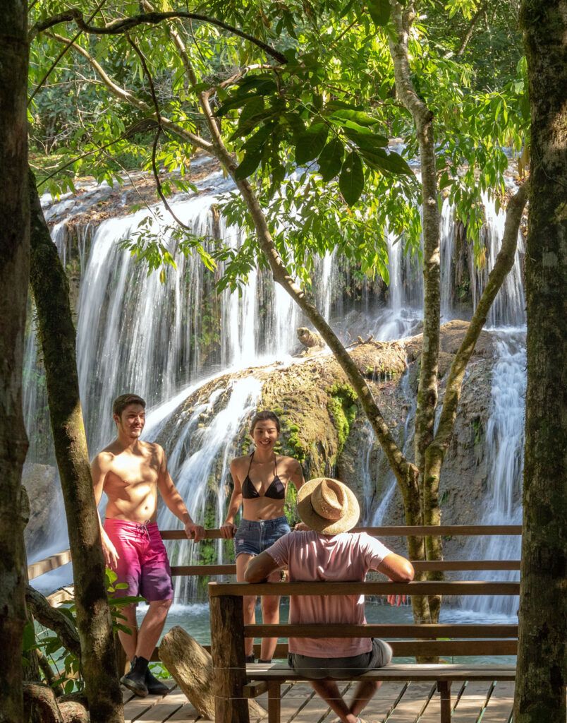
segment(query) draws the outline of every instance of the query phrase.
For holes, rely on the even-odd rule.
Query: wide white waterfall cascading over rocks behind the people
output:
[[[245,241],[243,231],[227,226],[211,210],[220,194],[231,189],[230,182],[223,180],[221,174],[211,174],[199,183],[205,189],[202,194],[180,196],[170,202],[176,215],[191,227],[193,234],[205,238],[204,249],[211,250],[218,239],[230,242],[233,248],[240,247]],[[46,198],[43,199],[47,217],[56,221],[52,235],[64,265],[72,262],[72,237],[64,221],[65,213],[69,210],[82,213],[101,197],[108,197],[109,191],[108,185],[101,184],[100,187],[87,189],[79,202],[70,194],[52,205],[48,205]],[[493,203],[488,199],[485,200],[485,209],[486,223],[482,234],[487,249],[486,266],[480,271],[475,268],[469,270],[475,304],[500,248],[503,232],[504,214],[496,214]],[[167,273],[165,283],[160,283],[157,273],[148,276],[143,264],[135,262],[128,250],[118,247],[119,241],[131,238],[132,234],[141,230],[139,224],[148,216],[148,210],[109,218],[94,230],[88,225],[78,229],[77,276],[80,276],[81,284],[77,304],[77,366],[87,440],[93,456],[114,436],[111,416],[113,398],[126,391],[139,393],[148,403],[144,439],[157,440],[165,446],[170,474],[196,521],[203,521],[207,514],[215,519],[214,524],[217,525],[224,513],[228,463],[237,453],[235,440],[241,438],[246,420],[256,408],[262,382],[254,371],[246,376],[233,375],[230,381],[223,377],[222,382],[215,382],[217,386],[207,398],[203,396],[192,408],[186,408],[184,403],[190,395],[196,394],[201,385],[207,384],[208,388],[209,383],[228,369],[254,367],[274,359],[285,363],[290,361],[290,351],[297,345],[296,328],[305,322],[290,296],[264,271],[252,270],[249,273],[248,284],[243,287],[241,296],[230,294],[228,290],[215,294],[214,284],[222,273],[222,265],[216,273],[209,273],[204,270],[199,257],[183,257],[175,253],[178,241],[165,227],[163,219],[167,218],[167,213],[163,206],[158,204],[152,207],[151,212],[153,215],[147,228],[159,232],[163,244],[176,257],[177,269]],[[454,209],[446,200],[443,202],[440,226],[443,321],[451,316],[451,298],[454,296],[451,288],[454,283],[451,273],[455,247],[453,217]],[[418,252],[404,252],[404,239],[387,231],[385,242],[390,275],[386,306],[380,302],[382,307],[376,311],[377,299],[370,298],[368,288],[363,288],[362,293],[365,324],[368,324],[366,330],[379,341],[417,333],[423,317],[423,278],[417,260]],[[519,238],[514,268],[491,312],[492,325],[519,326],[524,323],[520,272],[522,249]],[[323,259],[316,258],[314,269],[313,296],[326,320],[336,323],[341,300],[347,299],[343,291],[350,269],[345,260],[334,252],[326,254]],[[515,341],[512,342],[511,338]],[[503,523],[516,520],[520,514],[516,488],[521,474],[522,437],[514,432],[516,441],[513,445],[508,441],[512,439],[512,432],[510,428],[503,427],[505,415],[499,416],[498,410],[521,409],[525,383],[521,366],[524,354],[521,351],[521,333],[502,333],[499,346],[501,358],[493,374],[493,411],[487,436],[487,440],[490,437],[493,441],[487,453],[493,455],[493,464],[498,464],[498,469],[493,468],[489,479],[495,484],[495,489],[490,491],[493,495],[490,499],[494,500],[490,502],[491,513],[495,515],[493,519],[496,523]],[[44,448],[46,440],[50,440],[51,449],[51,430],[43,372],[37,361],[35,332],[31,324],[26,341],[25,375],[25,415],[32,442],[29,458],[46,459],[48,451]],[[519,402],[513,398],[514,384]],[[412,397],[407,375],[402,385],[405,385],[408,398]],[[519,414],[521,416],[521,412]],[[404,451],[408,450],[410,456],[412,434],[409,424],[412,416],[410,411],[405,428],[400,428]],[[376,442],[369,424],[364,434],[365,442],[360,449],[360,474],[365,491],[363,519],[365,523],[378,525],[386,522],[385,515],[391,507],[396,482],[393,473],[387,471],[381,500],[371,509],[372,484],[376,478],[376,472],[371,468],[376,463],[371,451]],[[502,440],[506,443],[503,444]],[[513,454],[512,446],[516,450]],[[381,451],[378,454],[381,455]],[[510,455],[514,458],[513,465],[508,463]],[[52,453],[50,459],[53,464]],[[500,468],[505,470],[511,466],[514,467],[516,481],[509,487],[508,481],[501,476]],[[498,500],[498,495],[503,500]],[[216,506],[211,506],[212,500]],[[497,509],[502,511],[496,512]],[[167,508],[160,508],[159,521],[165,529],[179,526]],[[489,523],[488,518],[483,521]],[[500,538],[496,540],[501,542]],[[222,541],[208,544],[214,547],[216,559],[222,560]],[[173,565],[190,564],[198,549],[192,542],[179,541],[168,543],[168,547]],[[471,553],[473,557],[481,554],[496,557],[490,549]],[[517,556],[516,552],[509,554]],[[192,592],[190,579],[178,578],[176,598],[184,599]]]

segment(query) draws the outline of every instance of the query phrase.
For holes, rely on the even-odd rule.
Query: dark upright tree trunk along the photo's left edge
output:
[[[26,559],[22,413],[30,214],[27,200],[27,3],[2,9],[0,28],[0,722],[24,720],[22,633]]]

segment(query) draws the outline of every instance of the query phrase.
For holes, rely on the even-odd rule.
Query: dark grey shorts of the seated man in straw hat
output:
[[[383,668],[391,661],[391,647],[379,638],[372,638],[372,650],[368,653],[347,658],[313,658],[299,653],[290,653],[287,664],[304,677],[345,678],[358,677],[374,668]]]

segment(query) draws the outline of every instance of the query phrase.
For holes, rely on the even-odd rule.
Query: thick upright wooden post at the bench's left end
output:
[[[215,583],[209,583],[209,590]],[[236,595],[209,595],[215,723],[250,723],[244,657],[243,601]]]

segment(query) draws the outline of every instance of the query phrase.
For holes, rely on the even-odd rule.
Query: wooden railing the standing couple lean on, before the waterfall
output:
[[[486,536],[486,535],[521,535],[521,525],[442,525],[430,526],[382,526],[382,527],[356,527],[352,532],[368,532],[376,537],[398,536]],[[163,530],[161,536],[164,540],[187,539],[183,530]],[[206,530],[205,539],[221,539],[220,529]],[[38,560],[28,565],[27,578],[33,580],[50,570],[56,570],[61,565],[71,562],[71,552],[65,549],[62,552]],[[519,560],[412,560],[417,571],[425,570],[519,570]],[[235,575],[236,566],[229,565],[173,565],[171,573],[174,576],[215,576]]]

